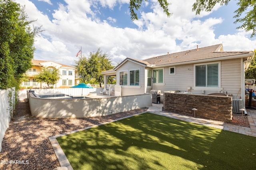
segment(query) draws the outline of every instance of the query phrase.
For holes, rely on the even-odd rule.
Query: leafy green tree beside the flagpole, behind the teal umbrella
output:
[[[114,68],[108,54],[103,53],[100,48],[96,52],[90,52],[88,57],[81,56],[75,63],[80,82],[92,84],[104,82],[101,72]]]

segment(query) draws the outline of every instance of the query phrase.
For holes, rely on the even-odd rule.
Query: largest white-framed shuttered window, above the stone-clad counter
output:
[[[196,86],[218,87],[219,86],[219,64],[196,65]]]

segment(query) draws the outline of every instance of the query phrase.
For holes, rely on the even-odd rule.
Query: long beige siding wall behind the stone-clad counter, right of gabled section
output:
[[[216,62],[212,62],[216,63]],[[175,66],[175,74],[169,74],[169,67],[164,67],[164,83],[154,83],[154,89],[164,91],[192,92],[192,94],[211,94],[216,92],[226,92],[233,98],[241,96],[241,60],[220,61],[220,87],[200,88],[194,86],[194,64],[184,64]],[[204,64],[204,63],[201,63]],[[158,69],[158,68],[155,68]],[[154,70],[154,68],[152,68]],[[189,90],[190,88],[190,90]]]

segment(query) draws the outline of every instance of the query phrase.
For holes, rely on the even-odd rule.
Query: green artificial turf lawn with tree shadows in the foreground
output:
[[[256,169],[256,138],[143,113],[57,138],[74,170]]]

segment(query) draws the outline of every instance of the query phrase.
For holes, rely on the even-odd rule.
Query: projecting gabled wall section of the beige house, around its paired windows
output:
[[[140,70],[140,85],[139,86],[131,86],[129,84],[130,80],[130,75],[129,71],[130,70]],[[128,96],[128,95],[134,95],[134,94],[144,94],[145,93],[145,67],[133,63],[131,61],[127,61],[126,63],[122,64],[122,67],[118,68],[116,70],[116,85],[120,85],[120,72],[126,71],[128,72],[128,85],[124,86],[121,85],[122,87],[122,96]]]

